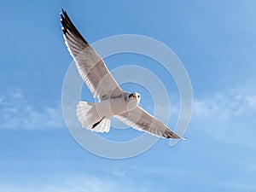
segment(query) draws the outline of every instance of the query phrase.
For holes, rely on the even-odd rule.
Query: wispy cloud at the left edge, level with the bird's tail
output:
[[[0,95],[1,129],[45,129],[64,126],[61,102],[54,106],[38,106],[29,102],[22,91],[16,89]]]

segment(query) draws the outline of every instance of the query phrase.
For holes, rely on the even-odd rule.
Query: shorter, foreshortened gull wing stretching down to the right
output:
[[[183,137],[177,136],[176,133],[160,122],[160,120],[155,119],[151,114],[147,113],[145,110],[143,110],[143,108],[138,106],[131,111],[115,115],[114,117],[123,121],[126,125],[129,125],[134,129],[146,131],[157,137],[183,139]]]

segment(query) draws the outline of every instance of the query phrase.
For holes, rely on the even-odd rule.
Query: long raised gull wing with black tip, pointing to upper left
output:
[[[122,94],[123,90],[109,73],[102,58],[90,47],[63,9],[61,24],[67,49],[92,95],[101,101]]]

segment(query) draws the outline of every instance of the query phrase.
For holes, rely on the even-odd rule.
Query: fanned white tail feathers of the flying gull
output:
[[[92,102],[79,102],[77,116],[82,127],[96,132],[108,132],[111,120],[108,117],[100,117],[97,113],[96,104]]]

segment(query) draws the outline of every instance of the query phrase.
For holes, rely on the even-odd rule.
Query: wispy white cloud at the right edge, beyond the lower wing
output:
[[[226,90],[195,98],[192,123],[220,141],[251,145],[256,134],[255,112],[256,90]]]

